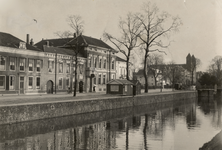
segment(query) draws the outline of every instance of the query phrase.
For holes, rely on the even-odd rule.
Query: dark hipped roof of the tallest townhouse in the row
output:
[[[93,46],[107,48],[107,49],[115,51],[112,47],[110,47],[108,44],[106,44],[102,40],[92,38],[92,37],[88,37],[88,36],[85,36],[85,35],[79,35],[76,38],[46,39],[46,40],[42,40],[42,41],[36,43],[35,45],[38,48],[42,49],[43,45],[46,45],[46,42],[48,41],[49,46],[63,47],[63,46],[68,45],[68,44],[75,45],[76,42],[77,42],[77,39],[78,39],[78,42],[80,44],[84,43],[85,45],[93,45]]]

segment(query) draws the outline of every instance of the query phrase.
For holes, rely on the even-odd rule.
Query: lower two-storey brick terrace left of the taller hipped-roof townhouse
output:
[[[33,46],[10,34],[0,32],[0,93],[55,93],[66,91],[71,83],[73,52]],[[79,57],[78,81],[85,80],[85,58]],[[84,89],[83,89],[84,90]]]

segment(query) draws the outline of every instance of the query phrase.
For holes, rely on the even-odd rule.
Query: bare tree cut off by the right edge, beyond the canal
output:
[[[209,73],[216,76],[217,83],[222,85],[222,56],[215,56],[209,66]]]

